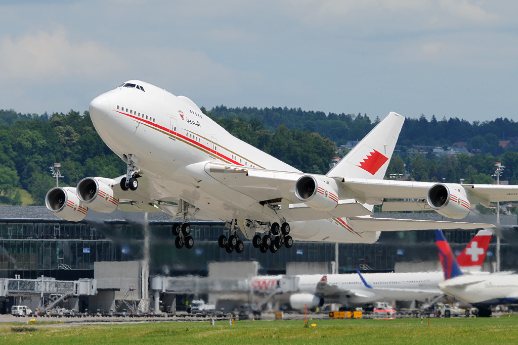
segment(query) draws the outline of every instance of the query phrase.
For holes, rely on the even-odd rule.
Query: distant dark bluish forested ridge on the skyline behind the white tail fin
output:
[[[247,122],[257,119],[269,131],[275,131],[284,124],[288,129],[309,130],[319,133],[338,146],[349,140],[361,140],[380,121],[373,121],[367,114],[325,114],[321,111],[305,111],[300,108],[227,108],[218,106],[209,112],[213,117],[242,118]],[[455,142],[467,142],[468,151],[479,148],[483,153],[493,156],[503,153],[498,146],[499,140],[518,137],[518,123],[508,118],[496,118],[491,121],[474,121],[443,117],[440,121],[433,115],[428,121],[425,115],[418,118],[407,117],[399,134],[398,145],[427,145],[448,147]]]

